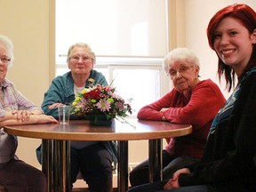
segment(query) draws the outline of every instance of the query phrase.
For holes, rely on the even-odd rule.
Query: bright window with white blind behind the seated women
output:
[[[68,71],[68,47],[87,43],[102,72],[138,110],[169,88],[167,0],[55,0],[56,76]],[[167,87],[167,88],[166,88]]]

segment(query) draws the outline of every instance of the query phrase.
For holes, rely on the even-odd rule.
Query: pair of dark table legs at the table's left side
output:
[[[70,141],[43,140],[43,172],[48,192],[70,191]]]

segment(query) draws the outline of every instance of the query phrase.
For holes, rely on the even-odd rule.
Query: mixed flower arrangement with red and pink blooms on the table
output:
[[[116,116],[125,117],[132,114],[130,104],[125,103],[111,86],[91,85],[76,96],[72,103],[71,113],[85,116],[92,124],[110,125]]]

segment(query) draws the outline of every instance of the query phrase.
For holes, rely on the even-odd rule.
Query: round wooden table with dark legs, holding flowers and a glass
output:
[[[149,180],[161,166],[162,139],[179,137],[192,132],[190,124],[171,124],[163,121],[128,120],[129,124],[114,120],[111,126],[95,126],[88,121],[69,124],[29,124],[5,126],[4,132],[21,137],[43,139],[43,172],[48,191],[69,191],[70,140],[117,140],[118,191],[128,189],[128,140],[149,140]],[[159,163],[159,164],[158,164]],[[161,169],[161,167],[160,167]],[[64,170],[64,172],[63,172]]]

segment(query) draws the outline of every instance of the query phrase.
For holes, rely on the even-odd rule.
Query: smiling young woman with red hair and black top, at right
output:
[[[246,4],[221,9],[207,28],[219,58],[218,74],[234,92],[213,120],[204,156],[171,180],[135,191],[256,191],[256,12]]]

